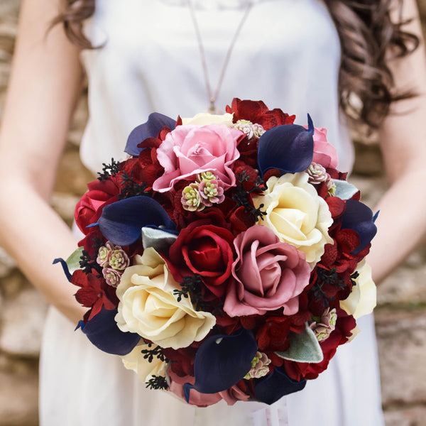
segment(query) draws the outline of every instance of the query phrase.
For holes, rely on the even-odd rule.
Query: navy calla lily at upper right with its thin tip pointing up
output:
[[[269,129],[258,142],[258,166],[263,175],[276,168],[284,173],[306,170],[314,155],[314,124],[307,116],[308,127],[284,124]]]

